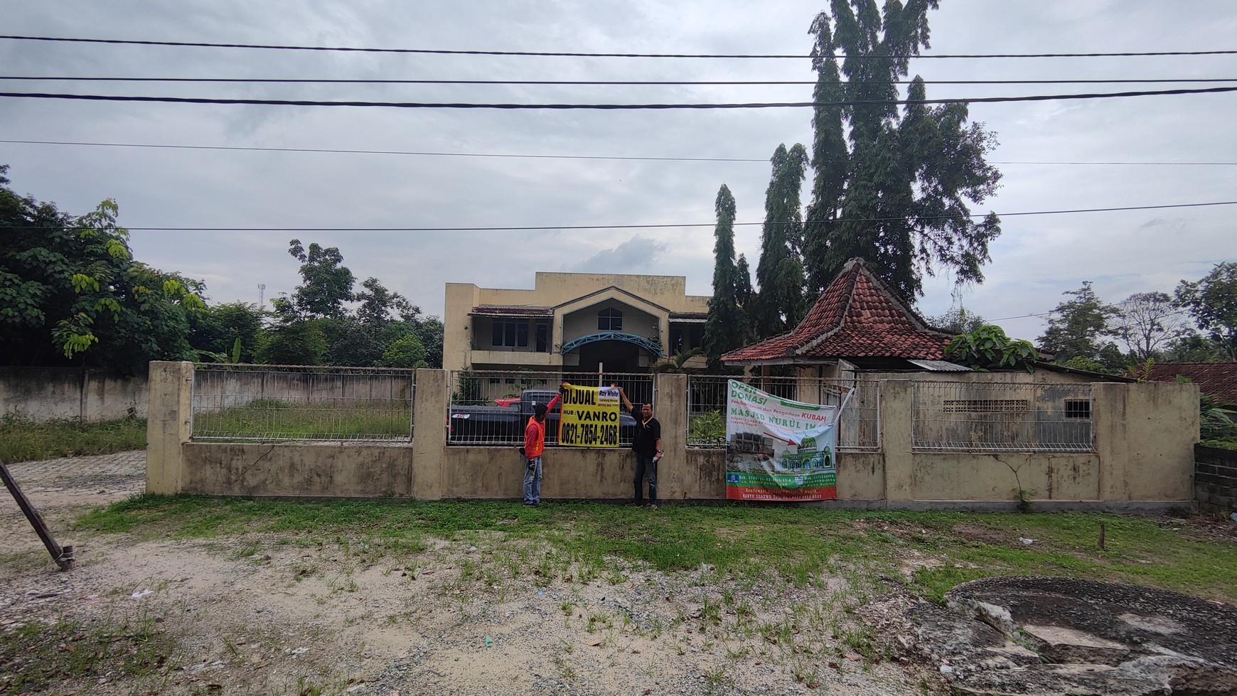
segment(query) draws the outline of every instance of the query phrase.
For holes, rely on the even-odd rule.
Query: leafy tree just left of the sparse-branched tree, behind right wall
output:
[[[1121,367],[1124,362],[1121,351],[1111,341],[1103,340],[1113,335],[1108,323],[1117,309],[1100,302],[1091,287],[1091,281],[1082,283],[1076,291],[1066,291],[1074,299],[1063,302],[1053,309],[1048,318],[1048,328],[1039,336],[1039,347],[1054,354],[1054,362],[1069,363],[1081,359],[1089,362],[1075,362],[1075,367],[1094,368],[1091,362]]]

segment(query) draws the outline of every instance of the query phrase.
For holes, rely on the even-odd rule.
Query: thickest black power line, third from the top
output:
[[[19,99],[71,99],[85,101],[158,101],[166,104],[255,104],[265,106],[383,106],[396,109],[501,109],[501,110],[708,110],[708,109],[785,109],[808,106],[861,106],[861,105],[908,105],[908,104],[997,104],[1007,101],[1059,101],[1076,99],[1112,99],[1124,96],[1165,96],[1183,94],[1220,94],[1237,91],[1237,87],[1210,87],[1204,89],[1164,89],[1155,91],[1116,91],[1091,94],[1037,94],[1024,96],[974,96],[966,99],[854,99],[841,101],[752,101],[720,104],[499,104],[499,103],[460,103],[460,101],[322,101],[312,99],[219,99],[200,96],[120,96],[108,94],[51,94],[0,91],[0,96]]]

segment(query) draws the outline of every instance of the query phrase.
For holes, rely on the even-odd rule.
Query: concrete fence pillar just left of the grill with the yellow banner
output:
[[[447,407],[452,384],[447,370],[417,370],[413,405],[412,481],[408,490],[418,501],[443,497],[443,461],[447,459]]]

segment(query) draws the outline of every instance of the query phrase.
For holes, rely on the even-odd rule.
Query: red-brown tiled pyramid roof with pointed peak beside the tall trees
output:
[[[842,271],[792,331],[730,351],[724,362],[788,359],[941,360],[951,336],[931,330],[861,258]]]

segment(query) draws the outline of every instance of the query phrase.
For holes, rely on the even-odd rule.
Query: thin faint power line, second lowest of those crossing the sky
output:
[[[417,150],[345,150],[327,147],[242,147],[225,145],[160,145],[150,142],[80,142],[59,140],[2,140],[12,145],[72,145],[90,147],[148,147],[161,150],[221,150],[241,152],[312,152],[330,155],[411,155],[424,157],[496,157],[516,159],[617,159],[636,162],[761,162],[768,157],[641,157],[617,155],[522,155],[515,152],[435,152]],[[1032,161],[990,161],[988,164],[1051,164],[1051,166],[1237,166],[1237,162],[1032,162]]]

